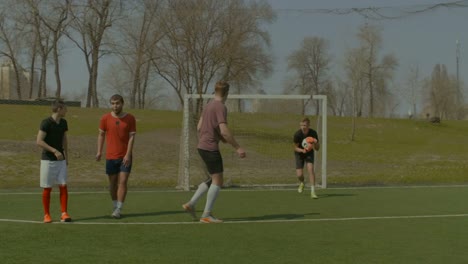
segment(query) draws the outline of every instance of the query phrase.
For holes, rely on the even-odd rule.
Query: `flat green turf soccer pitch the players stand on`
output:
[[[222,224],[193,222],[191,192],[71,190],[72,223],[42,223],[41,193],[0,192],[2,263],[467,263],[467,186],[222,190]],[[201,200],[197,213],[203,209]]]

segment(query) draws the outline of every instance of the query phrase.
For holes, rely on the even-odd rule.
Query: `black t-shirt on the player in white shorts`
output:
[[[65,132],[68,131],[67,120],[60,118],[60,122],[57,124],[57,122],[55,122],[55,120],[52,117],[48,117],[42,120],[39,129],[46,133],[44,141],[49,146],[60,151],[62,155],[65,156],[65,154],[63,153],[63,137],[65,135]],[[41,159],[57,160],[57,157],[54,153],[43,149]]]

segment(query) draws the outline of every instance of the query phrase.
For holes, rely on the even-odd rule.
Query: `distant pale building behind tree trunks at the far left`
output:
[[[4,61],[0,65],[0,99],[36,99],[39,89],[37,82],[38,76],[35,72],[33,74],[35,75],[35,82],[33,84],[32,98],[29,98],[31,73],[24,70],[23,68],[20,69],[21,98],[19,98],[17,92],[17,80],[13,64],[10,60]]]

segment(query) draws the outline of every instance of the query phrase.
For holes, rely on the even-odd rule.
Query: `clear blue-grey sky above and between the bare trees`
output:
[[[287,57],[297,50],[305,37],[322,37],[330,42],[332,72],[344,79],[343,58],[346,50],[358,46],[356,32],[366,19],[356,13],[320,14],[319,9],[385,7],[384,14],[398,14],[399,9],[424,8],[428,4],[447,3],[447,0],[267,0],[277,13],[277,19],[267,27],[274,57],[274,72],[265,79],[262,89],[280,94],[284,82],[291,78],[287,72]],[[456,74],[456,41],[460,43],[460,76],[468,86],[468,8],[438,8],[418,15],[393,20],[368,20],[383,29],[381,55],[393,54],[399,61],[394,85],[405,83],[410,66],[417,65],[421,76],[430,76],[435,64],[445,64],[449,73]],[[82,55],[68,47],[62,62],[62,82],[65,94],[76,94],[87,86],[87,73]],[[109,65],[102,64],[101,72]],[[102,74],[101,74],[102,76]],[[53,81],[49,81],[50,84]],[[79,93],[79,92],[78,92]],[[468,95],[467,95],[468,97]],[[398,107],[406,113],[409,103],[401,99]]]

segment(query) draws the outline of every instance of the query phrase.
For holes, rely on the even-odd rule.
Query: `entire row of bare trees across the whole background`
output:
[[[51,96],[54,86],[53,96],[62,96],[60,58],[70,48],[85,61],[86,107],[100,105],[99,78],[128,97],[131,108],[151,107],[163,87],[182,105],[185,94],[206,94],[219,79],[232,84],[231,93],[268,93],[255,88],[273,69],[267,28],[277,14],[265,1],[4,0],[0,7],[0,56],[13,66],[20,99]],[[331,114],[353,117],[389,115],[400,93],[413,115],[422,104],[420,113],[463,118],[463,84],[443,64],[429,77],[411,66],[404,87],[393,85],[399,63],[395,55],[381,54],[382,31],[361,25],[358,46],[340,60],[333,58],[329,40],[305,37],[285,62],[292,75],[284,93],[325,94]],[[105,58],[113,59],[112,70],[99,76]],[[332,64],[340,64],[345,75],[333,75]],[[23,70],[39,72],[39,80],[29,78],[28,94],[21,94]],[[48,74],[55,83],[47,83]],[[314,109],[318,113],[318,105]]]

